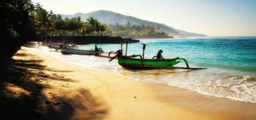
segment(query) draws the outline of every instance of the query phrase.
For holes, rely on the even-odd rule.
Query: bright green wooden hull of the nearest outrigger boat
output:
[[[118,58],[118,64],[125,68],[164,68],[180,63],[179,60],[152,60],[137,58]]]

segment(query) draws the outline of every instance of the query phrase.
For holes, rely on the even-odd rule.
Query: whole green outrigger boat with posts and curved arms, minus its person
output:
[[[184,58],[173,58],[173,59],[154,59],[156,56],[154,56],[152,59],[144,59],[144,51],[146,48],[146,45],[143,44],[143,54],[140,55],[131,55],[127,56],[127,48],[128,48],[128,42],[126,43],[126,54],[123,55],[123,43],[121,42],[121,49],[114,52],[109,52],[108,56],[111,53],[117,54],[114,57],[118,58],[118,64],[121,65],[124,68],[133,68],[133,69],[151,69],[151,68],[162,68],[162,69],[206,69],[206,68],[190,68],[189,64],[186,59]],[[112,60],[114,59],[112,58]],[[140,57],[140,58],[135,58]],[[187,67],[174,67],[174,65],[180,63],[183,60],[186,63]],[[111,61],[111,60],[110,60]]]

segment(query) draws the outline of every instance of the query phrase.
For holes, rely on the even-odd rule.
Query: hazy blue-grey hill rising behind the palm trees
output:
[[[87,18],[89,17],[94,17],[98,19],[101,23],[104,24],[126,24],[126,22],[130,22],[131,24],[138,24],[138,25],[150,25],[154,27],[160,27],[160,30],[163,32],[168,33],[169,36],[183,36],[183,37],[202,37],[206,36],[203,34],[197,34],[197,33],[192,33],[192,32],[186,32],[183,30],[175,29],[171,26],[165,25],[165,24],[159,24],[156,22],[151,22],[151,21],[146,21],[146,20],[141,20],[132,16],[126,16],[122,15],[119,13],[115,13],[112,11],[106,11],[106,10],[98,10],[90,13],[81,13],[78,12],[73,15],[64,15],[62,14],[62,17],[77,17],[81,16],[82,21],[86,21]]]

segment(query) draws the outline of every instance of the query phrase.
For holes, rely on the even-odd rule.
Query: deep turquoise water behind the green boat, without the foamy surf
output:
[[[234,70],[256,75],[256,37],[194,38],[194,39],[140,39],[146,44],[145,58],[163,50],[165,58],[183,57],[190,65]],[[104,51],[116,51],[119,44],[99,44]],[[83,48],[93,48],[87,45]],[[128,54],[142,54],[142,45],[128,45]]]

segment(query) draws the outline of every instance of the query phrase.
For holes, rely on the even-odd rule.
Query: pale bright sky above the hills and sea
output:
[[[207,36],[256,36],[256,0],[32,0],[56,14],[109,10]]]

